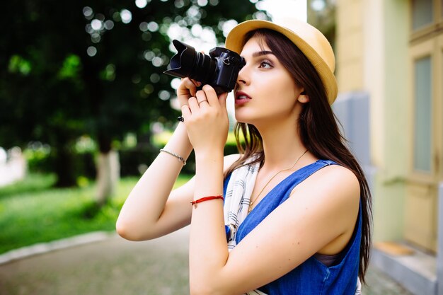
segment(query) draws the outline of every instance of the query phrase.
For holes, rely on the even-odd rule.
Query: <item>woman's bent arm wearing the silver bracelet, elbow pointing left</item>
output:
[[[192,146],[185,125],[180,122],[163,148],[188,158]],[[117,233],[123,238],[142,241],[163,236],[189,224],[193,183],[171,192],[183,162],[161,152],[130,192],[117,219]],[[168,200],[168,202],[166,202]]]

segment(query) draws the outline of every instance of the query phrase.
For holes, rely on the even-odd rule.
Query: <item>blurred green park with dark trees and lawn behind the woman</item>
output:
[[[312,15],[330,15],[333,40],[333,3],[312,3]],[[30,0],[3,8],[0,253],[113,230],[180,114],[180,80],[163,74],[176,53],[171,40],[209,52],[241,21],[307,16],[305,1]],[[235,151],[230,137],[226,153]],[[191,157],[180,180],[194,168]]]

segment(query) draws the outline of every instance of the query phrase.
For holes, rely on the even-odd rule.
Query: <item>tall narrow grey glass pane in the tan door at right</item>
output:
[[[432,66],[431,57],[415,60],[414,170],[431,172]]]

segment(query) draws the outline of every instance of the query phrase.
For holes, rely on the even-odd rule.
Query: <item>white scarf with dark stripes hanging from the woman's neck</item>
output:
[[[248,216],[249,203],[257,178],[260,163],[248,165],[255,158],[251,158],[245,166],[232,171],[226,193],[224,195],[224,224],[229,228],[228,250],[231,251],[237,245],[236,234],[238,226]],[[248,291],[244,295],[266,295],[262,291]],[[362,295],[362,284],[357,279],[355,295]]]

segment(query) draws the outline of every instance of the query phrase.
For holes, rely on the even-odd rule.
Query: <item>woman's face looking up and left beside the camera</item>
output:
[[[299,88],[289,71],[260,37],[252,37],[243,47],[246,60],[238,73],[235,91],[238,122],[272,125],[279,120],[297,120]],[[292,121],[295,122],[295,121]]]

